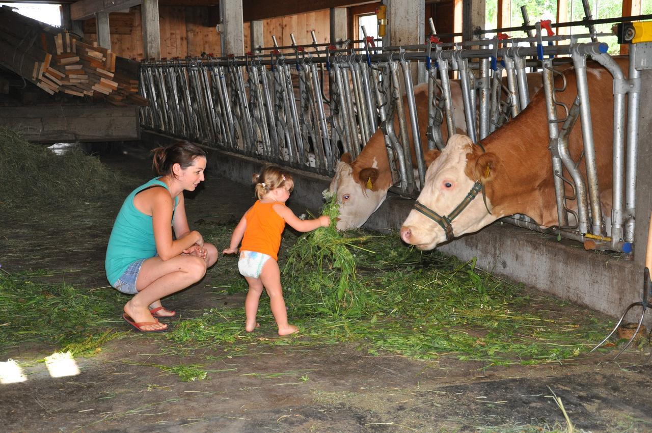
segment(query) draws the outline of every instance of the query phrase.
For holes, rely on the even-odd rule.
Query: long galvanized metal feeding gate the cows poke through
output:
[[[524,18],[527,23],[525,10]],[[636,18],[647,17],[621,21]],[[544,29],[550,30],[548,36],[542,35],[542,23]],[[529,31],[526,38],[507,38],[496,33],[491,39],[460,43],[439,42],[432,20],[430,25],[432,35],[426,44],[418,46],[376,47],[365,34],[363,40],[345,42],[351,46],[361,42],[364,48],[337,49],[317,44],[313,32],[311,46],[293,43],[278,47],[274,38],[274,47],[261,48],[263,53],[256,55],[143,61],[140,91],[149,100],[149,107],[141,109],[141,123],[171,136],[331,177],[342,153],[357,157],[381,128],[392,162],[393,190],[415,196],[426,172],[424,150],[443,149],[444,121],[449,136],[456,131],[451,73],[458,76],[462,92],[466,134],[478,142],[529,104],[530,68],[542,74],[546,98],[548,119],[541,119],[541,127],[548,127],[555,173],[559,225],[554,233],[578,241],[594,239],[597,248],[630,252],[634,241],[640,92],[640,72],[634,67],[638,61],[636,45],[630,45],[629,78],[625,79],[623,71],[606,53],[606,44],[597,42],[604,34],[595,33],[593,25],[589,25],[591,32],[587,35],[554,36],[550,23],[541,22],[520,28]],[[589,38],[590,42],[578,42]],[[610,236],[600,209],[587,57],[603,65],[614,77]],[[576,70],[578,87],[571,107],[557,101],[556,94],[563,89],[554,85],[555,76],[563,78],[557,70],[559,65],[569,63]],[[419,70],[418,75],[428,83],[425,137],[419,133],[413,70]],[[563,106],[565,118],[557,118],[558,106]],[[579,161],[572,160],[567,151],[567,138],[578,118],[586,177],[578,170]],[[398,119],[398,130],[393,119]],[[417,155],[415,170],[411,166],[408,127]],[[563,168],[570,173],[570,179],[563,177]],[[571,200],[576,198],[577,211],[566,205],[569,198],[565,183],[574,190]],[[569,217],[576,223],[569,224]],[[503,219],[542,231],[524,215]]]

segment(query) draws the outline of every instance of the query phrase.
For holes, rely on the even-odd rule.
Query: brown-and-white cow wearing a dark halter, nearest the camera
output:
[[[627,58],[617,58],[627,71]],[[571,106],[577,95],[574,68],[563,71],[567,82],[557,100]],[[601,201],[610,209],[614,82],[599,64],[587,64],[591,119],[599,175]],[[561,87],[561,78],[556,78]],[[565,116],[557,109],[560,118]],[[400,236],[421,250],[431,250],[452,237],[473,233],[498,218],[520,213],[540,226],[557,225],[557,205],[543,92],[514,120],[490,134],[481,143],[455,135],[426,172],[421,194],[403,222]],[[576,125],[569,136],[573,160],[582,155],[582,131]],[[585,174],[584,159],[580,170]],[[568,175],[568,173],[565,173]],[[572,196],[567,185],[567,196]],[[466,199],[466,197],[469,199]],[[473,198],[472,198],[473,197]],[[462,203],[466,203],[463,205]],[[576,208],[574,201],[569,201]]]

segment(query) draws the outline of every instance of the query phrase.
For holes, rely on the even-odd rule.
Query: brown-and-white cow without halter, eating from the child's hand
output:
[[[527,74],[527,83],[530,97],[535,95],[542,87],[541,74]],[[426,140],[428,127],[428,85],[419,84],[414,87],[415,103],[417,106],[417,120],[421,130],[422,142]],[[462,101],[462,89],[459,80],[451,80],[451,97],[453,116],[457,132],[466,132],[466,119]],[[407,98],[403,98],[405,112],[408,113]],[[407,119],[408,136],[413,157],[413,167],[417,166],[412,130]],[[394,131],[398,131],[398,121],[394,119]],[[445,119],[441,125],[441,134],[447,140]],[[428,151],[424,154],[426,166],[432,162],[437,153]],[[338,230],[359,228],[385,201],[387,190],[393,185],[385,139],[382,130],[378,129],[364,145],[363,150],[355,160],[351,155],[344,153],[336,164],[335,175],[331,181],[330,190],[337,196],[340,216],[337,221]]]

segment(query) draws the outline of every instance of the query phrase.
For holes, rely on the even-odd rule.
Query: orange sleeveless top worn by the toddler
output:
[[[285,220],[274,211],[276,203],[256,203],[244,214],[246,230],[241,250],[262,252],[278,260],[278,248],[281,246],[281,233],[285,228]]]

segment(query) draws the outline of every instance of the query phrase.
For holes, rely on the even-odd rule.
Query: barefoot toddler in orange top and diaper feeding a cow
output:
[[[280,167],[263,168],[260,174],[254,175],[254,183],[258,200],[244,213],[233,230],[231,245],[223,253],[237,253],[238,245],[242,241],[238,269],[249,284],[244,301],[244,329],[252,332],[259,327],[256,312],[264,287],[278,325],[278,335],[288,335],[299,331],[299,328],[288,323],[288,312],[283,300],[277,262],[281,233],[286,222],[295,230],[312,231],[319,227],[328,227],[331,218],[324,215],[314,220],[301,220],[294,215],[285,205],[294,188],[294,182],[291,175]]]

